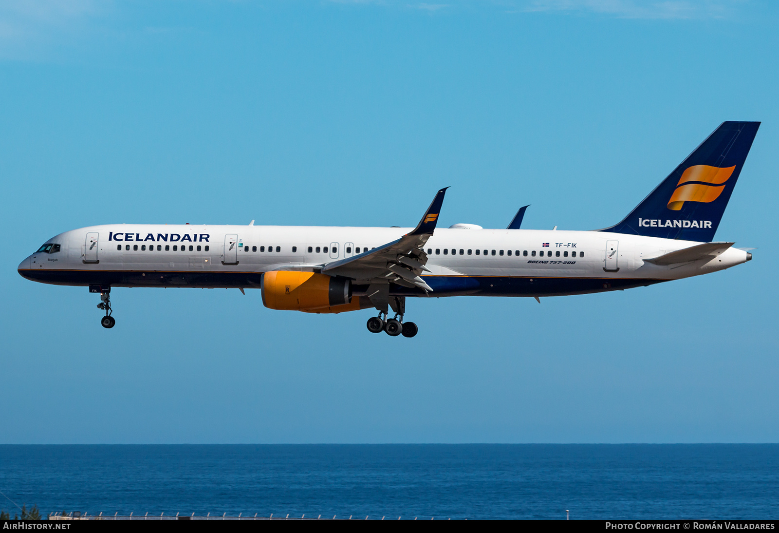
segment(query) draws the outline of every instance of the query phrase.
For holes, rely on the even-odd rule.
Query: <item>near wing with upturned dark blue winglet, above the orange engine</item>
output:
[[[409,231],[396,241],[388,242],[386,245],[378,246],[368,250],[368,252],[327,263],[322,269],[322,274],[351,277],[356,281],[365,281],[372,285],[392,282],[405,287],[419,287],[428,292],[432,291],[432,288],[420,277],[423,271],[429,272],[425,267],[428,255],[423,246],[433,235],[435,224],[438,223],[446,189],[449,187],[439,190],[435,195],[428,210],[425,211],[425,215],[413,231]]]

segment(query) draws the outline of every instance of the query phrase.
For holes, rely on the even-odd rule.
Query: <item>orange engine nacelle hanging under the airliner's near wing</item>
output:
[[[360,309],[352,298],[351,281],[313,272],[273,270],[263,274],[263,305],[269,309],[344,312]]]

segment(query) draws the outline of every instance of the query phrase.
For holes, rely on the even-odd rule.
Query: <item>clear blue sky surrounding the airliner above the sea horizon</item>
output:
[[[2,443],[777,442],[771,2],[4,2]],[[265,309],[19,260],[107,223],[614,224],[760,120],[717,274],[601,295]]]

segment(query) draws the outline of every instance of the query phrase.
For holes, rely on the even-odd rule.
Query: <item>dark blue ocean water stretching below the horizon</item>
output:
[[[770,518],[777,467],[777,444],[2,445],[0,491],[47,514]]]

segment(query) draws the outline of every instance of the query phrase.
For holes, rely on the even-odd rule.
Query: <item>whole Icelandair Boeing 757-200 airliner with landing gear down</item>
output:
[[[415,228],[108,224],[65,231],[19,264],[41,283],[111,288],[259,288],[270,309],[375,309],[372,333],[414,337],[406,298],[547,296],[622,291],[752,259],[713,242],[760,122],[723,122],[619,224],[594,231],[436,228],[446,189]],[[390,318],[390,309],[394,312]]]

